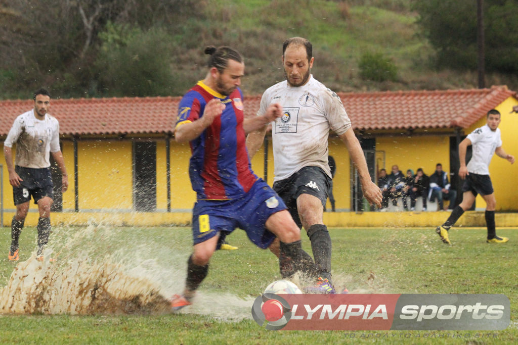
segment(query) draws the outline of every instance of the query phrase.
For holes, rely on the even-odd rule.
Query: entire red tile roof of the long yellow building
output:
[[[447,91],[339,93],[358,130],[467,128],[516,93],[506,86]],[[261,96],[246,96],[246,115]],[[62,135],[172,133],[180,97],[54,99],[50,113]],[[0,135],[33,107],[32,100],[0,101]]]

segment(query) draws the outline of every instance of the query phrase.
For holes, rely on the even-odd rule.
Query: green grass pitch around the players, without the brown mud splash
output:
[[[0,291],[16,263],[7,260],[10,229],[0,228]],[[277,344],[345,343],[516,343],[518,264],[516,229],[498,229],[505,245],[486,244],[485,229],[454,229],[452,246],[431,229],[331,229],[335,283],[350,293],[501,293],[511,301],[505,331],[266,331],[252,319],[253,299],[280,278],[277,259],[255,248],[243,231],[228,237],[239,247],[214,254],[210,273],[195,304],[180,314],[130,312],[106,315],[0,314],[0,343],[174,343]],[[20,240],[20,260],[30,258],[34,228]],[[305,249],[309,241],[303,237]],[[49,247],[59,261],[109,261],[121,272],[159,286],[169,297],[179,292],[191,250],[187,228],[55,227]],[[0,306],[2,301],[0,301]],[[453,338],[456,335],[456,338]],[[461,335],[462,338],[458,338]],[[469,335],[469,337],[466,337]],[[350,340],[351,337],[355,340]],[[477,336],[477,338],[476,338]],[[377,338],[379,337],[379,338]]]

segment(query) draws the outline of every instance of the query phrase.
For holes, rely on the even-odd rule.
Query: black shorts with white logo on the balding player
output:
[[[290,177],[275,182],[273,188],[286,204],[295,223],[302,228],[302,222],[298,217],[297,198],[300,194],[310,194],[320,199],[323,208],[331,181],[322,168],[304,167]]]

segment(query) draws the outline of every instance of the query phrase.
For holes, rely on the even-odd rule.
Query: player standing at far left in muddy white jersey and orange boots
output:
[[[68,188],[63,155],[60,149],[60,126],[57,119],[47,112],[50,94],[46,89],[34,93],[34,109],[15,119],[4,142],[4,156],[9,183],[16,205],[16,215],[11,222],[11,246],[8,259],[17,261],[18,239],[29,209],[31,197],[38,205],[38,248],[36,259],[43,261],[43,249],[50,235],[50,206],[54,198],[50,173],[50,153],[62,173],[62,191]],[[15,165],[12,164],[12,145],[16,144]],[[52,259],[50,259],[52,260]]]

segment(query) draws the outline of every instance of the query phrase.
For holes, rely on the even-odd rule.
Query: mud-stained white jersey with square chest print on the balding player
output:
[[[310,76],[305,85],[293,87],[287,81],[269,87],[261,98],[258,115],[270,104],[280,103],[283,116],[272,123],[274,181],[290,177],[301,168],[316,166],[329,177],[327,138],[339,136],[351,127],[340,97]]]

